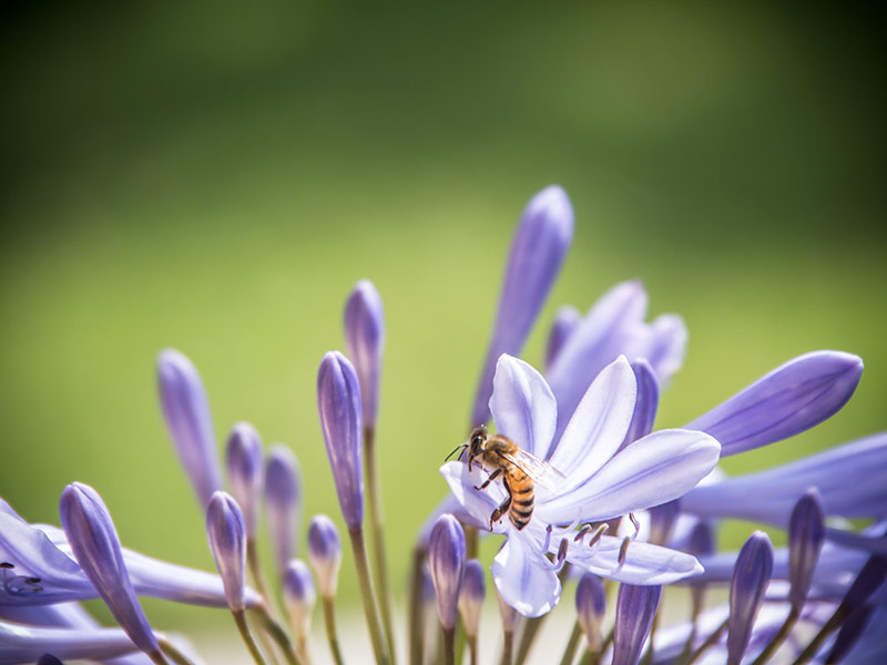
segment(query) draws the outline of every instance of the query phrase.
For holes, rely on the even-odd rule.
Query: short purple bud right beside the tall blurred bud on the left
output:
[[[262,459],[262,439],[248,422],[238,422],[228,434],[225,456],[231,493],[243,509],[246,535],[254,540],[258,532],[259,503],[265,483],[265,461]]]

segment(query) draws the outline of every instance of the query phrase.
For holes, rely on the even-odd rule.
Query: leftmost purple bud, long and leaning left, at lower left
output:
[[[102,498],[91,487],[74,482],[64,488],[59,511],[80,567],[111,614],[139,648],[157,655],[157,641],[133,591],[120,538]]]

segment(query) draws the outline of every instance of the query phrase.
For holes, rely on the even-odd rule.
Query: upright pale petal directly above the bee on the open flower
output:
[[[546,458],[558,423],[558,405],[542,375],[502,354],[496,365],[490,410],[500,434],[530,454]]]

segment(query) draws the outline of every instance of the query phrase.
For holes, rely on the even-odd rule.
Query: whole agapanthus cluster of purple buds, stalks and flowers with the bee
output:
[[[237,422],[222,454],[201,377],[170,349],[157,361],[161,408],[205,512],[217,574],[126,549],[101,488],[65,488],[61,528],[30,524],[0,501],[0,665],[198,663],[183,638],[153,628],[140,596],[227,607],[244,656],[258,665],[307,664],[319,649],[339,665],[520,665],[531,655],[564,665],[887,661],[887,432],[744,477],[718,467],[837,413],[861,360],[840,351],[789,359],[683,428],[657,430],[689,337],[676,315],[646,320],[640,282],[616,285],[584,315],[562,307],[542,367],[521,359],[573,225],[557,186],[520,219],[467,438],[440,468],[442,499],[418,529],[400,602],[386,567],[376,462],[385,446],[383,299],[368,280],[345,298],[345,352],[318,359],[317,412],[371,652],[343,653],[337,520],[313,516],[307,563],[299,559],[310,482],[296,452],[266,450],[256,427]],[[263,519],[268,545],[258,538]],[[754,531],[738,552],[718,551],[728,519],[785,530],[788,544],[774,548]],[[481,538],[501,543],[491,561],[479,554]],[[272,571],[262,566],[264,546]],[[672,585],[689,594],[689,608],[665,602]],[[726,602],[712,604],[718,585]],[[564,593],[574,602],[561,602]],[[312,640],[318,595],[326,646]],[[483,626],[493,596],[501,622]],[[80,604],[95,597],[120,627],[101,626]],[[558,653],[549,644],[534,654],[552,611],[572,623],[570,637]],[[482,632],[501,633],[499,651],[481,653]]]

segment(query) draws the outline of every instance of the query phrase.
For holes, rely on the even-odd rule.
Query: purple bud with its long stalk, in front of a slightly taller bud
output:
[[[317,411],[341,515],[351,540],[373,651],[379,664],[387,664],[390,663],[390,655],[383,637],[364,540],[360,386],[354,366],[338,351],[326,354],[320,362],[317,372]]]

